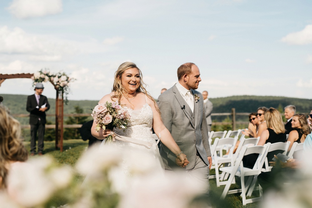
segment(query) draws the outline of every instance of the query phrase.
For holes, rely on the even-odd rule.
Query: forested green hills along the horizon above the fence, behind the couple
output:
[[[6,105],[12,114],[27,114],[26,101],[27,95],[16,94],[1,94],[4,98],[3,104]],[[49,98],[51,109],[49,114],[55,113],[55,99]],[[309,113],[312,109],[312,99],[288,98],[288,97],[275,97],[275,96],[251,96],[240,95],[224,98],[211,98],[213,103],[213,113],[226,113],[231,112],[232,108],[236,112],[255,112],[260,106],[267,108],[283,108],[286,105],[295,105],[298,113]],[[84,113],[90,113],[98,100],[69,100],[68,105],[64,105],[64,113],[74,113],[74,106],[80,106]]]

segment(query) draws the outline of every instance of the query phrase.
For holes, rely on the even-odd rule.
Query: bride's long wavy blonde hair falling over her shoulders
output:
[[[147,85],[143,82],[143,75],[142,75],[141,70],[132,62],[124,62],[124,63],[122,63],[118,67],[117,71],[115,72],[114,84],[113,84],[113,89],[112,89],[112,92],[115,92],[115,95],[112,96],[112,100],[117,101],[118,103],[120,103],[120,99],[121,99],[122,95],[128,93],[128,91],[121,84],[121,76],[123,75],[125,70],[131,69],[131,68],[138,69],[139,70],[139,74],[140,74],[140,86],[139,86],[139,88],[136,91],[137,92],[142,92],[142,93],[146,94],[146,96],[149,97],[149,99],[153,100],[154,106],[155,106],[157,112],[160,114],[160,111],[159,111],[159,108],[156,105],[155,99],[145,89],[145,87]]]

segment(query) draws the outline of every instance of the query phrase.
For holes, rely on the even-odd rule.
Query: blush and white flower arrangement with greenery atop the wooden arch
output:
[[[57,89],[65,94],[65,103],[67,104],[67,95],[70,92],[69,85],[76,79],[69,77],[65,72],[51,73],[48,69],[40,70],[34,73],[31,77],[33,80],[32,85],[35,86],[39,82],[52,82]]]

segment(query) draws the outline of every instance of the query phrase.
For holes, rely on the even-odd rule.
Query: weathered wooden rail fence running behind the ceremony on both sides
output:
[[[236,129],[237,124],[248,124],[246,121],[236,121],[237,115],[248,116],[250,113],[236,113],[235,108],[232,108],[231,113],[212,113],[211,116],[230,116],[232,122],[212,122],[212,125],[232,125],[232,129]],[[25,118],[29,117],[29,114],[12,114],[13,117]],[[46,114],[47,117],[54,117],[55,114]],[[64,114],[64,117],[84,117],[90,116],[90,114]],[[91,116],[90,116],[91,119]],[[64,124],[64,128],[80,128],[82,124]],[[21,128],[29,128],[30,125],[21,125]],[[55,128],[55,124],[46,124],[46,128]]]

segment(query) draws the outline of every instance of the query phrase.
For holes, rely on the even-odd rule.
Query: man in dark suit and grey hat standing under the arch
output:
[[[38,155],[42,155],[43,151],[43,137],[46,124],[46,111],[50,109],[50,105],[46,96],[42,95],[43,92],[42,83],[37,83],[35,87],[35,94],[27,97],[26,110],[30,112],[29,124],[30,124],[30,152],[31,155],[36,153],[36,140],[38,132]]]

